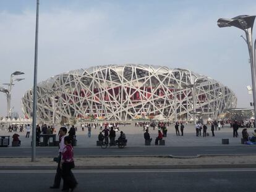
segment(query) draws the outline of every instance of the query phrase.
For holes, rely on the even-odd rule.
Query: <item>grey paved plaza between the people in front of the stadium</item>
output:
[[[130,125],[120,125],[119,127],[120,131],[124,131],[126,133],[126,138],[128,140],[127,148],[129,146],[132,147],[142,147],[145,146],[144,144],[144,138],[143,138],[143,128],[142,127],[135,127],[134,122],[132,122]],[[56,133],[58,133],[59,127],[56,128]],[[230,128],[229,124],[224,125],[224,128],[221,128],[221,130],[215,131],[215,136],[211,136],[211,127],[208,125],[207,133],[209,133],[210,136],[203,137],[203,131],[202,136],[195,136],[195,126],[193,124],[187,124],[184,128],[184,136],[176,136],[174,124],[169,125],[168,127],[168,133],[167,137],[163,138],[165,140],[165,146],[221,146],[221,139],[229,139],[229,146],[237,146],[241,145],[241,132],[242,128],[239,128],[239,137],[233,138],[233,128]],[[151,138],[153,138],[153,141],[155,140],[158,130],[153,130],[153,128],[149,128],[149,133]],[[254,131],[254,128],[249,128],[248,133],[249,135],[252,135],[252,131]],[[32,131],[30,132],[30,138],[25,138],[26,131],[20,133],[17,132],[20,135],[21,140],[21,146],[20,148],[30,148],[30,142],[32,140],[31,135]],[[98,140],[98,134],[100,133],[100,127],[96,127],[96,129],[92,128],[92,135],[90,138],[88,138],[88,130],[85,128],[85,131],[82,131],[81,127],[77,127],[77,148],[96,148],[96,140]],[[7,130],[0,130],[0,135],[9,135],[10,136],[10,142],[11,142],[11,136],[14,134],[8,133]],[[116,138],[120,135],[119,131],[116,131]],[[148,146],[149,148],[155,147],[154,142],[152,141],[151,146]],[[9,145],[9,148],[12,148],[11,144]]]

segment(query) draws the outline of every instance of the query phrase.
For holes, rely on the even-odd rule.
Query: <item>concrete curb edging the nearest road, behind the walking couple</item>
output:
[[[0,170],[56,170],[57,165],[0,166]],[[77,165],[74,170],[155,170],[155,169],[252,169],[256,164],[201,164],[201,165]]]

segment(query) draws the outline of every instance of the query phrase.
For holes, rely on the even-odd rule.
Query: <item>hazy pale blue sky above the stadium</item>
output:
[[[237,107],[249,107],[244,32],[216,23],[245,14],[256,14],[255,0],[41,0],[38,83],[95,65],[165,65],[214,78],[236,93]],[[12,90],[11,107],[19,114],[22,95],[33,87],[35,18],[36,0],[0,1],[0,83],[9,83],[15,70],[25,73]],[[6,111],[0,93],[0,116]]]

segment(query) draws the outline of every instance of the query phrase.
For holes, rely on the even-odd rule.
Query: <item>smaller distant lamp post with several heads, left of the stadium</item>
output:
[[[14,72],[11,74],[11,80],[10,83],[3,83],[3,85],[7,85],[8,88],[0,88],[0,91],[3,93],[6,93],[6,98],[7,98],[7,117],[11,117],[11,91],[12,87],[14,86],[14,81],[22,81],[25,78],[14,78],[15,75],[23,75],[23,72]]]

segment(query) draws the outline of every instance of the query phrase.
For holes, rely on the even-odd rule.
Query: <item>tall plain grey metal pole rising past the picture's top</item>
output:
[[[34,86],[33,86],[33,125],[32,125],[32,162],[35,162],[36,149],[36,86],[37,86],[37,52],[38,52],[38,16],[39,0],[36,0],[36,31],[35,31],[35,65],[34,65]]]

